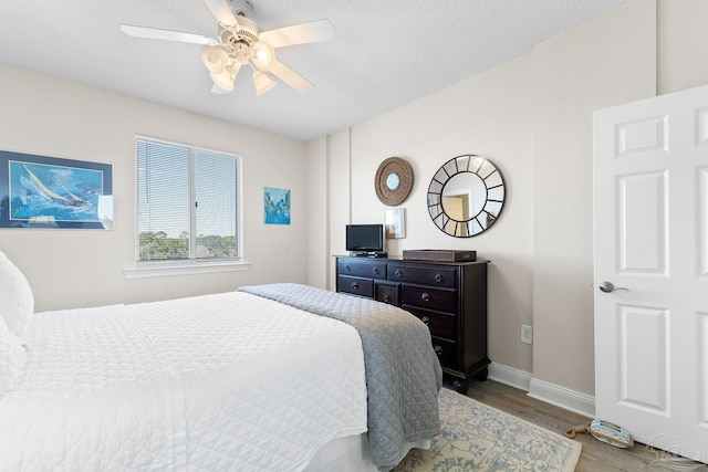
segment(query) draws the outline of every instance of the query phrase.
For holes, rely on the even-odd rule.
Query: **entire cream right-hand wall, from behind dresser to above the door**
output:
[[[708,82],[707,22],[705,0],[633,0],[527,55],[353,126],[348,147],[326,151],[337,196],[330,214],[383,222],[388,207],[374,190],[377,166],[392,156],[408,160],[415,181],[400,206],[407,238],[388,240],[388,252],[475,249],[491,260],[492,361],[592,396],[592,112],[653,96],[657,81],[659,93]],[[435,170],[461,154],[487,155],[509,189],[499,221],[471,239],[445,235],[426,209]],[[331,255],[343,253],[345,220],[330,221]],[[320,270],[333,289],[327,264]],[[534,326],[533,346],[520,343],[521,324]]]

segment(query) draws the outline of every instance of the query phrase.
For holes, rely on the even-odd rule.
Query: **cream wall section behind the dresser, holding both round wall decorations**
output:
[[[383,222],[383,204],[374,176],[386,158],[397,156],[413,167],[406,210],[406,239],[387,240],[389,255],[404,249],[473,249],[492,261],[489,332],[492,339],[518,339],[519,326],[531,324],[533,238],[533,73],[531,56],[511,61],[459,85],[378,116],[351,129],[350,146],[330,149],[332,214],[351,208],[354,223]],[[343,134],[342,134],[343,135]],[[341,135],[337,135],[341,138]],[[427,212],[430,177],[439,166],[462,154],[483,154],[501,169],[509,200],[493,229],[472,239],[451,238],[438,230]],[[351,180],[351,189],[342,190]],[[351,198],[344,199],[346,191]],[[332,254],[344,252],[344,219],[332,220]],[[330,287],[334,287],[333,277]],[[531,346],[490,345],[491,358],[530,370]]]

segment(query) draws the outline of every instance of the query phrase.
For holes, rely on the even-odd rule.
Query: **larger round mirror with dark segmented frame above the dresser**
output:
[[[433,176],[428,212],[444,233],[471,238],[497,221],[504,206],[504,179],[489,159],[458,156]]]

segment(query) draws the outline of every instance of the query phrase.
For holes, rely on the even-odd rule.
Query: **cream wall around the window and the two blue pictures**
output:
[[[114,230],[0,229],[0,250],[27,274],[37,311],[306,282],[305,143],[6,65],[0,103],[2,150],[113,165]],[[135,134],[243,157],[249,271],[124,279],[135,265]],[[263,223],[263,187],[291,190],[290,225]]]

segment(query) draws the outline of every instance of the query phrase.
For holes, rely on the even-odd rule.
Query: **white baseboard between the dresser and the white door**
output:
[[[529,397],[555,405],[589,418],[595,416],[595,397],[533,378],[533,375],[513,367],[491,363],[488,377],[501,384],[528,391]]]

